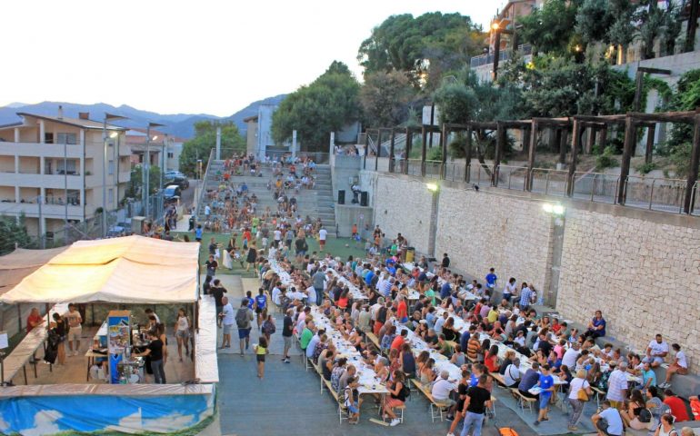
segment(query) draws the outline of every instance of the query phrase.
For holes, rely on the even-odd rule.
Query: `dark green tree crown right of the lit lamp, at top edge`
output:
[[[537,52],[565,53],[575,25],[580,0],[545,0],[540,9],[519,18],[520,36]]]

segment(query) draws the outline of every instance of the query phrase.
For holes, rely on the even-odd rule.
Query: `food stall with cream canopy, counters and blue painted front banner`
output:
[[[66,374],[68,382],[37,385],[30,381],[26,386],[0,388],[0,431],[165,432],[192,427],[211,417],[218,381],[215,305],[210,297],[198,294],[198,253],[198,243],[141,236],[78,242],[0,296],[5,303],[59,305],[60,311],[65,311],[60,305],[68,302],[108,309],[95,320],[101,327],[89,333],[94,339],[88,341],[87,353],[81,351],[84,360],[71,361],[87,362],[91,384],[75,384],[75,366],[66,366],[62,369],[71,370]],[[164,312],[171,306],[187,307],[194,313],[192,364],[176,370],[182,372],[178,384],[145,384],[145,359],[135,356],[148,344],[144,326],[132,310],[139,304]],[[15,373],[45,341],[47,324],[36,329],[15,348],[16,356],[13,352],[7,357]],[[90,376],[91,366],[101,362],[107,362],[105,381]],[[48,375],[45,366],[40,369]],[[85,380],[85,366],[78,376]],[[20,408],[22,413],[17,413]],[[50,420],[45,420],[47,412]],[[85,422],[85,416],[95,419]]]

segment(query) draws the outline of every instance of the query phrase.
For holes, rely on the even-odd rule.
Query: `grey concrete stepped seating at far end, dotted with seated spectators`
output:
[[[212,161],[209,165],[209,172],[205,174],[204,189],[215,189],[221,182],[221,174],[224,173],[224,161]],[[230,181],[237,186],[244,183],[248,186],[249,195],[255,193],[257,196],[257,211],[265,211],[269,206],[276,211],[277,202],[273,198],[273,192],[267,190],[267,183],[274,181],[272,170],[269,167],[262,169],[262,177],[251,175],[232,176]],[[298,206],[297,213],[306,218],[309,215],[313,220],[321,218],[325,230],[329,235],[335,236],[335,202],[333,199],[333,188],[331,186],[331,168],[329,165],[316,165],[314,189],[301,189],[299,193],[294,190],[287,191],[287,195],[296,197]],[[198,222],[204,222],[205,204],[211,203],[208,198],[203,198],[202,204],[198,208]]]

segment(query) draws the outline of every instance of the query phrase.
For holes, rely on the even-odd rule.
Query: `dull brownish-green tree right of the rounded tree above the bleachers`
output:
[[[414,89],[405,73],[377,72],[365,77],[360,89],[360,104],[365,111],[365,121],[372,127],[393,127],[408,118]]]

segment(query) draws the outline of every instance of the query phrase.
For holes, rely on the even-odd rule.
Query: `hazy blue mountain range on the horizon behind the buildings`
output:
[[[215,116],[210,114],[157,114],[155,112],[142,111],[126,104],[114,106],[112,104],[75,104],[67,102],[42,102],[37,104],[11,103],[0,107],[0,125],[10,124],[20,121],[17,112],[26,112],[38,115],[55,115],[58,106],[63,106],[64,115],[70,118],[77,118],[79,112],[90,113],[90,119],[100,121],[105,113],[125,116],[126,120],[115,121],[112,124],[123,127],[145,127],[148,123],[165,124],[158,127],[159,131],[172,134],[181,138],[191,138],[195,135],[195,123],[199,121],[233,121],[238,130],[245,137],[247,130],[244,118],[257,114],[258,106],[261,104],[280,104],[285,99],[286,94],[267,97],[245,106],[245,108],[230,116]]]

